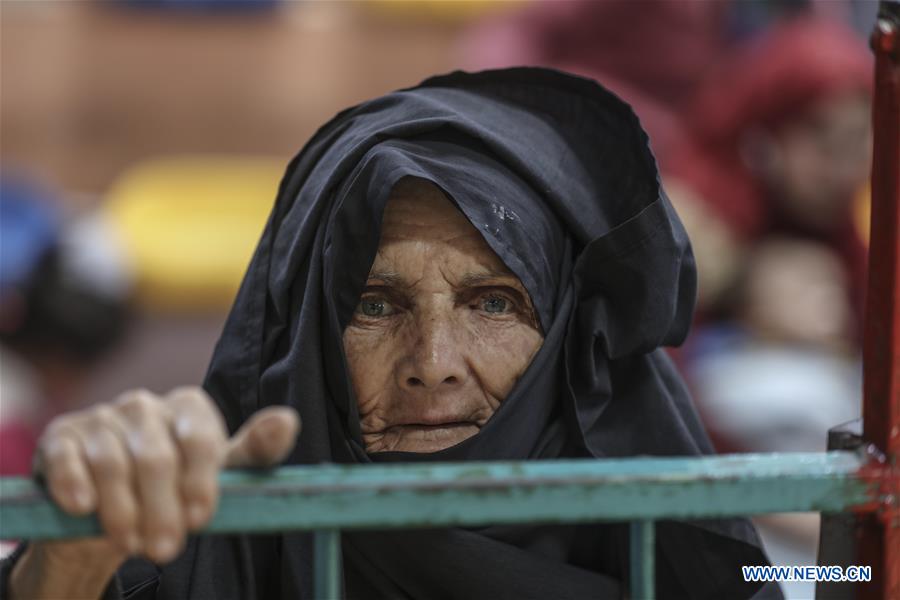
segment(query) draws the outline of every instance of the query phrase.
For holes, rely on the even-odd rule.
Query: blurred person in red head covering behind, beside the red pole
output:
[[[798,20],[739,49],[699,91],[689,144],[666,175],[701,271],[703,327],[688,348],[691,369],[721,373],[704,361],[759,348],[857,360],[866,247],[855,213],[871,159],[871,85],[861,40],[833,22]],[[756,381],[787,385],[789,362],[775,364],[771,377]],[[858,389],[835,386],[849,390],[846,402],[855,407]],[[699,392],[709,402],[727,396]],[[821,450],[820,433],[815,447],[785,438],[774,448],[759,432],[748,432],[756,443],[723,443]]]

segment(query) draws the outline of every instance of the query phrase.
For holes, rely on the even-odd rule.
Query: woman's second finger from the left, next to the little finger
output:
[[[109,406],[99,406],[92,418],[74,431],[97,490],[97,516],[107,537],[129,554],[141,549],[138,504],[132,487],[132,468],[121,425]]]

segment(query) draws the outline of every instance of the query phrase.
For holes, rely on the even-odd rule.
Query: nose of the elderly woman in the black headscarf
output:
[[[400,384],[410,391],[438,391],[461,386],[468,369],[458,331],[439,315],[420,320],[413,346],[400,372]]]

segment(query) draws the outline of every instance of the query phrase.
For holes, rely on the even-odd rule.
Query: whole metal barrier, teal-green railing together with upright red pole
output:
[[[827,43],[827,40],[823,40]],[[900,598],[900,4],[882,0],[876,55],[872,233],[857,451],[226,472],[208,533],[315,532],[315,591],[340,595],[343,529],[631,522],[630,595],[654,594],[659,519],[820,511],[856,515],[860,597]],[[868,444],[868,445],[866,445]],[[0,538],[99,533],[29,479],[0,480]]]

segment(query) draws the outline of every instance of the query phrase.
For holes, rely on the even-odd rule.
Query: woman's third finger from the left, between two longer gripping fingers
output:
[[[144,554],[155,562],[168,562],[181,550],[185,533],[178,490],[180,460],[169,416],[162,402],[146,391],[132,392],[117,404],[134,465]]]

